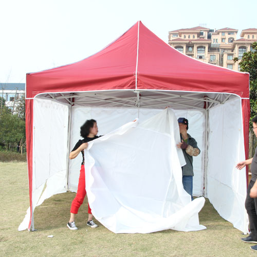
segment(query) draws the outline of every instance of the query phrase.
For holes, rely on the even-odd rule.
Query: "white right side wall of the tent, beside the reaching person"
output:
[[[235,168],[244,159],[241,99],[236,97],[209,111],[207,197],[223,218],[247,233],[246,170]]]

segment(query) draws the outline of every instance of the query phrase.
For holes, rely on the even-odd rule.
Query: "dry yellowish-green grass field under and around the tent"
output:
[[[87,205],[76,219],[77,231],[66,227],[75,193],[54,195],[36,207],[37,231],[17,231],[29,206],[26,163],[0,162],[1,230],[0,256],[256,256],[253,244],[240,241],[241,231],[220,217],[206,199],[199,213],[206,230],[151,234],[114,234],[99,222],[86,226]],[[47,237],[53,235],[52,238]]]

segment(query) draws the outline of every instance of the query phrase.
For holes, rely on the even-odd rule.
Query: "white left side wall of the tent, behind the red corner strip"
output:
[[[32,213],[45,199],[67,191],[69,108],[45,98],[34,99]],[[19,230],[28,228],[29,219],[28,209]],[[31,225],[33,230],[33,216]]]

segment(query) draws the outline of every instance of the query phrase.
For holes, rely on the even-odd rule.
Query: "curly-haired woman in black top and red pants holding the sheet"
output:
[[[79,185],[76,197],[71,203],[70,208],[70,219],[67,224],[67,227],[71,230],[77,230],[78,228],[75,225],[75,214],[78,213],[80,206],[83,203],[83,200],[86,195],[85,189],[85,168],[84,168],[84,149],[87,148],[89,141],[98,138],[98,127],[96,120],[87,120],[81,127],[80,127],[80,135],[83,137],[83,140],[79,140],[75,145],[74,149],[70,152],[69,158],[74,159],[76,158],[79,153],[82,153],[83,161],[81,163],[81,170],[80,170],[80,177],[79,177]],[[87,226],[91,228],[97,228],[98,226],[93,221],[93,215],[91,213],[90,206],[88,204],[88,221]]]

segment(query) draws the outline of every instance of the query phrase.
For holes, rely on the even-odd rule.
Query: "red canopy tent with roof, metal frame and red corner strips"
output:
[[[70,106],[206,109],[241,99],[245,156],[248,149],[249,74],[190,58],[137,22],[103,50],[77,63],[27,74],[26,137],[30,218],[33,225],[34,101]]]

